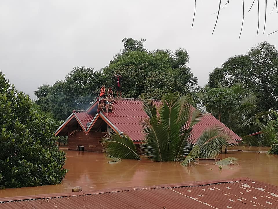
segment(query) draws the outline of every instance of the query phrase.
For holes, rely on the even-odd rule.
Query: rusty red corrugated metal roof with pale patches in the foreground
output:
[[[278,208],[278,187],[244,179],[1,198],[0,208]]]

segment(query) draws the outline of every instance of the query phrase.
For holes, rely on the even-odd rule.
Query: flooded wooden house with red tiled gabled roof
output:
[[[161,100],[152,101],[158,107],[162,104]],[[68,136],[68,149],[70,150],[92,152],[102,152],[103,147],[98,140],[109,131],[127,134],[137,146],[144,139],[140,121],[148,116],[143,110],[142,100],[118,100],[115,104],[115,111],[109,112],[108,116],[106,113],[98,113],[97,109],[98,100],[95,100],[86,110],[72,111],[67,120],[55,131],[55,136]],[[193,126],[193,139],[197,140],[205,129],[213,126],[221,126],[226,129],[231,135],[231,140],[229,140],[231,144],[242,140],[209,113],[204,114],[200,122]]]

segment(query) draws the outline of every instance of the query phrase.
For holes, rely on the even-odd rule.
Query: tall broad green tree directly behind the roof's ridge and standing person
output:
[[[122,91],[126,98],[161,99],[169,89],[187,93],[197,87],[197,78],[186,67],[189,61],[186,50],[172,52],[133,48],[115,56],[109,66],[103,69],[106,86],[114,86],[111,77],[120,73],[125,78]]]

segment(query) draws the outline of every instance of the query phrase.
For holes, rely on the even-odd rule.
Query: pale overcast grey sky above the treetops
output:
[[[222,6],[226,1],[222,1]],[[146,39],[148,50],[185,48],[188,66],[199,85],[208,81],[214,67],[229,57],[244,54],[259,42],[278,46],[278,14],[270,14],[268,1],[266,32],[264,3],[260,1],[257,32],[257,5],[248,12],[252,0],[245,0],[244,27],[242,1],[230,1],[220,11],[211,35],[219,0],[197,0],[191,29],[194,0],[1,0],[0,70],[17,89],[35,98],[41,84],[63,80],[74,66],[106,66],[123,47],[122,38]]]

